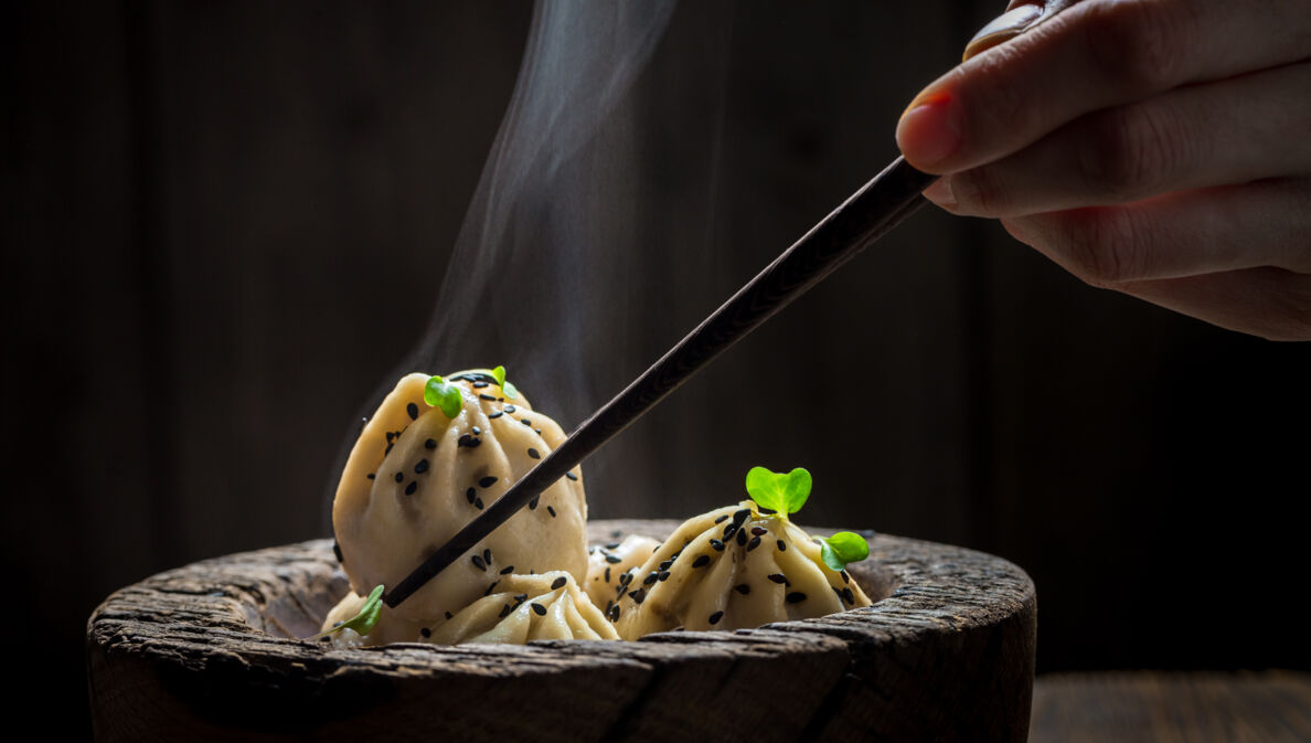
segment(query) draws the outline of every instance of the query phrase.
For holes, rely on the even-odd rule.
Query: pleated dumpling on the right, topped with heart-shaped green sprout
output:
[[[871,604],[847,571],[787,519],[751,500],[688,519],[636,571],[610,620],[624,639],[667,631],[733,630]]]

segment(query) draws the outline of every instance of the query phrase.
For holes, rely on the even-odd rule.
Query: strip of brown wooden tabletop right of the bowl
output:
[[[1311,742],[1311,673],[1059,673],[1033,688],[1030,743]]]

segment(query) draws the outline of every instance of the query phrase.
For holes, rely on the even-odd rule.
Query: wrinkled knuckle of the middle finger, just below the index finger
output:
[[[1179,169],[1183,138],[1160,106],[1135,105],[1095,114],[1078,151],[1083,185],[1110,201],[1154,193]]]

